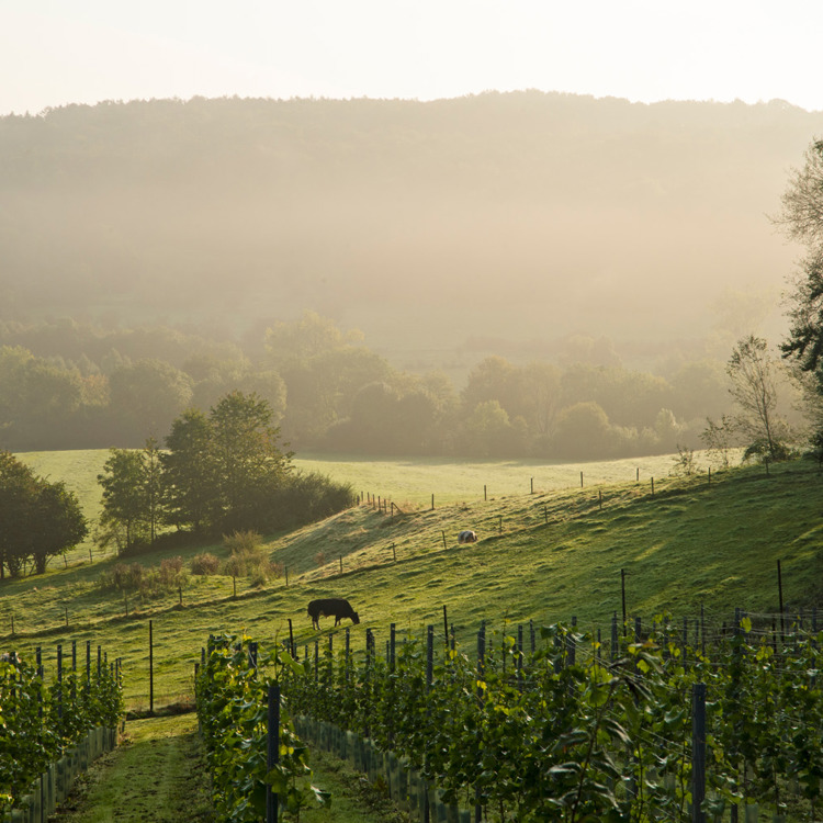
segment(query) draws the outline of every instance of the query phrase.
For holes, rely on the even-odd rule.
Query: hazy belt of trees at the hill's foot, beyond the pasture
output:
[[[296,451],[557,460],[699,448],[730,399],[723,363],[668,379],[619,364],[477,364],[459,391],[412,374],[356,331],[306,313],[266,332],[252,358],[168,327],[102,330],[72,322],[0,325],[0,448],[140,448],[184,410],[255,393]]]

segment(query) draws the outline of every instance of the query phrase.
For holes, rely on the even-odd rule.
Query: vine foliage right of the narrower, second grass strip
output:
[[[435,653],[404,638],[383,658],[332,655],[286,678],[293,711],[350,729],[393,751],[463,807],[499,821],[679,820],[691,802],[695,684],[707,685],[704,809],[748,800],[783,808],[797,778],[816,802],[823,722],[815,675],[821,636],[777,661],[771,647],[734,635],[708,653],[689,647],[667,617],[640,642],[602,650],[560,625],[535,651],[504,632],[476,663],[460,649]],[[485,632],[481,634],[485,638]],[[492,649],[492,641],[494,649]],[[745,765],[749,779],[743,780]],[[752,777],[753,776],[753,777]]]

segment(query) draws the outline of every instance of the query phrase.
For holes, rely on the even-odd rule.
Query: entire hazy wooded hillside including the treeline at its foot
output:
[[[698,448],[735,341],[783,334],[766,215],[818,132],[532,91],[0,117],[0,448],[140,446],[234,390],[300,450]]]

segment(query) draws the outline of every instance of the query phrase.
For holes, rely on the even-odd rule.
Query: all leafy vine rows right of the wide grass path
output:
[[[447,624],[425,638],[391,627],[384,651],[369,630],[357,653],[347,630],[300,662],[290,642],[258,653],[246,636],[213,639],[198,701],[215,802],[237,823],[264,819],[267,782],[285,810],[309,802],[301,728],[341,754],[365,747],[420,820],[813,821],[823,634],[755,622],[698,622],[690,636],[664,617],[631,632],[615,620],[606,641],[482,627],[471,650]],[[282,757],[269,771],[273,683]]]

